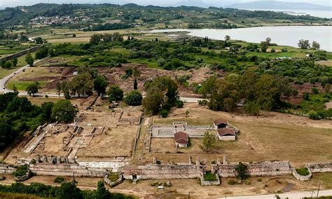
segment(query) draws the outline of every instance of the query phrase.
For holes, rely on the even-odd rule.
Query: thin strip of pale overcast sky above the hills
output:
[[[134,3],[140,5],[156,5],[156,6],[174,6],[185,2],[186,4],[195,4],[195,1],[202,1],[208,6],[227,6],[235,3],[244,3],[257,0],[0,0],[0,7],[13,7],[13,6],[29,6],[38,3],[55,3],[55,4],[127,4]],[[259,1],[259,0],[258,0]],[[287,2],[306,2],[312,4],[321,4],[324,6],[331,6],[331,0],[279,0]],[[193,3],[194,2],[194,3]]]

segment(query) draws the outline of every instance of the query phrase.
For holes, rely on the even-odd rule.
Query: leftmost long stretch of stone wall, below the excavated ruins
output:
[[[104,177],[107,174],[106,169],[82,167],[76,164],[35,164],[30,165],[30,170],[37,175],[51,176],[75,176],[77,177]]]

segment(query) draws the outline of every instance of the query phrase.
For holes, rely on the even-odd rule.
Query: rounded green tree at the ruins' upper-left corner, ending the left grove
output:
[[[51,118],[62,123],[69,123],[73,121],[77,113],[77,108],[68,99],[60,99],[53,106]]]

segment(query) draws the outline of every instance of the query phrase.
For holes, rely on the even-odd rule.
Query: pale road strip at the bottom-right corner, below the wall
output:
[[[290,193],[280,193],[277,194],[280,198],[289,198],[289,199],[300,199],[304,197],[314,197],[317,196],[317,190],[312,193],[312,191],[303,191],[303,192],[290,192]],[[319,191],[319,196],[331,196],[332,190]],[[225,197],[221,197],[225,198]],[[226,197],[228,199],[275,199],[275,194],[270,195],[247,195],[247,196],[235,196],[235,197]]]

